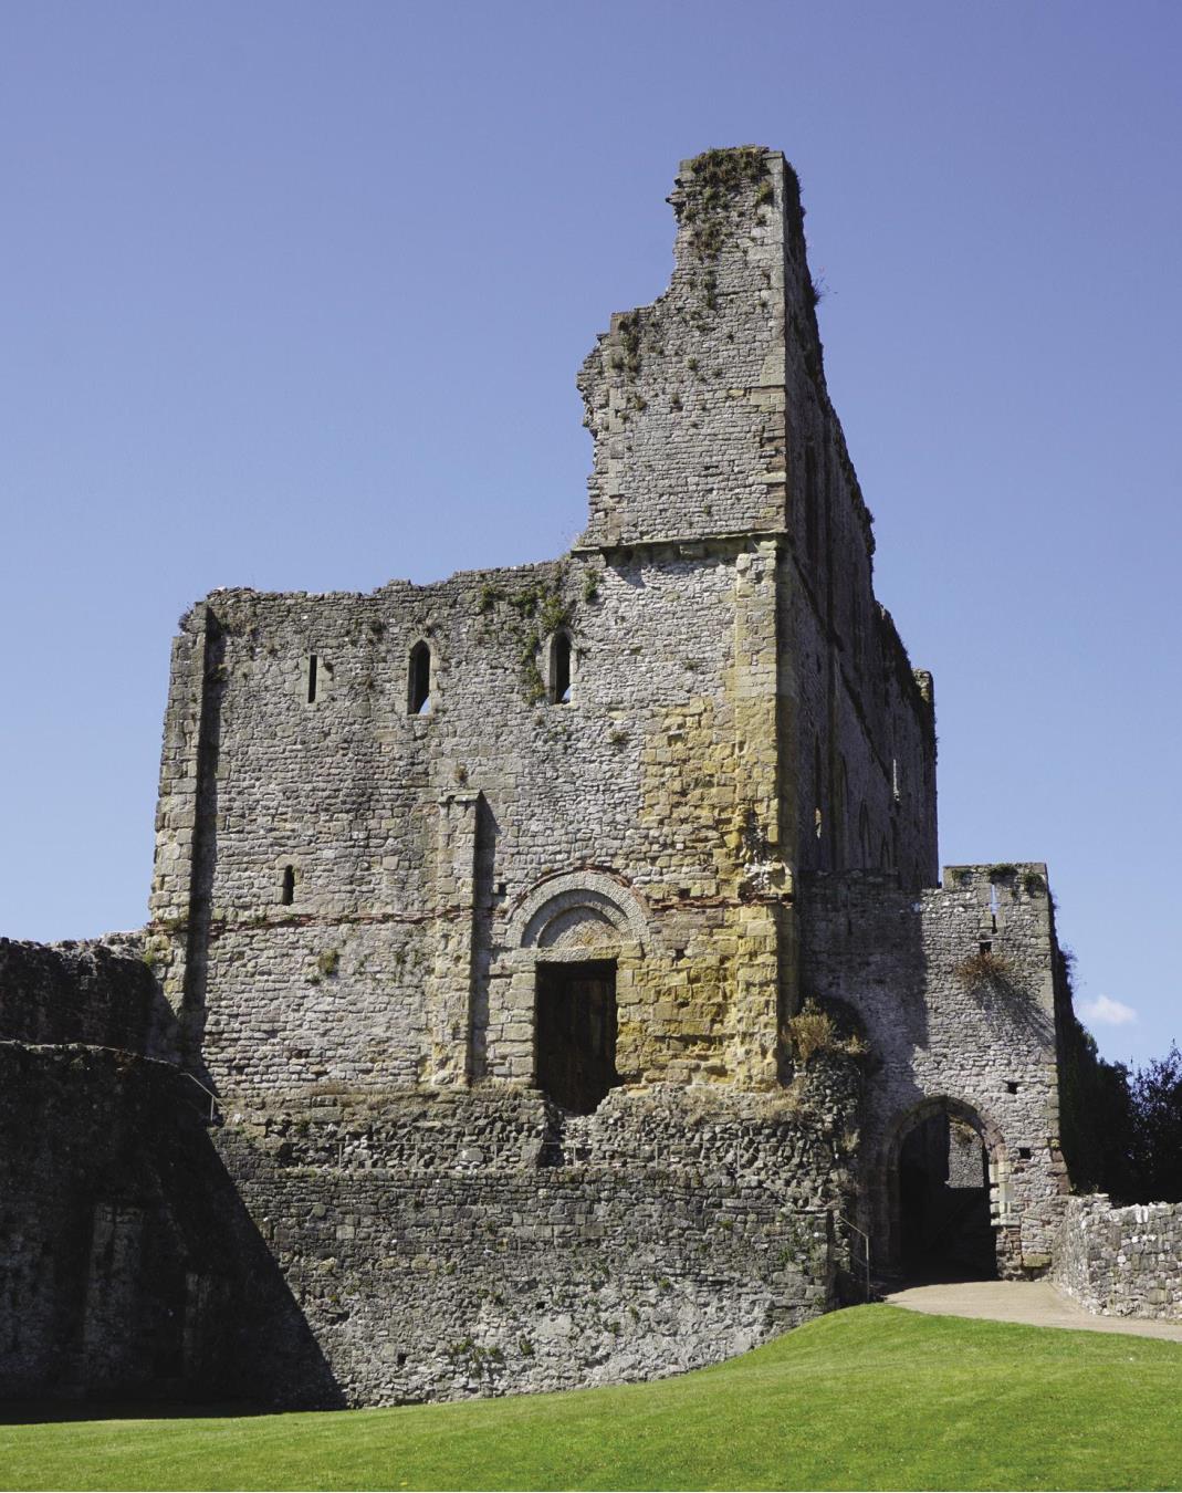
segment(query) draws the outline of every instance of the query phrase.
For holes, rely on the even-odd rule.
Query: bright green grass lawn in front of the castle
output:
[[[4,1489],[1178,1489],[1182,1344],[857,1306],[654,1384],[0,1426]]]

